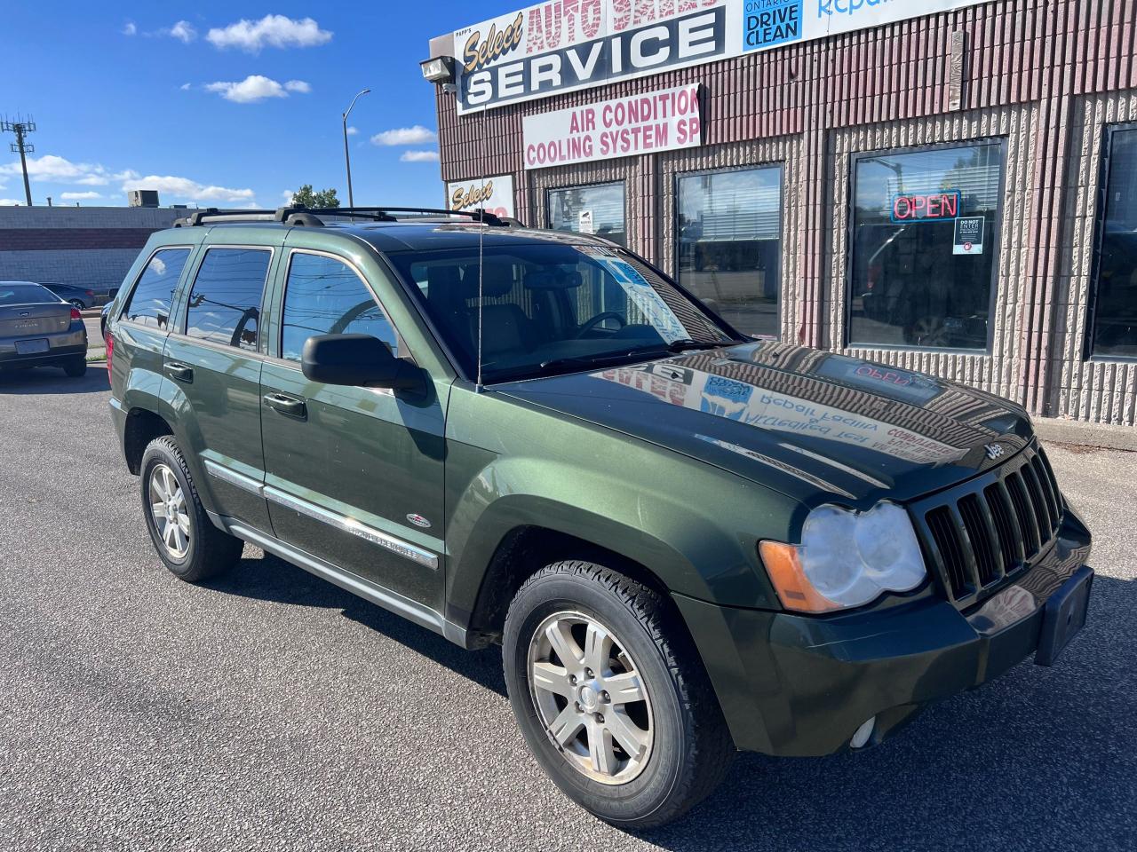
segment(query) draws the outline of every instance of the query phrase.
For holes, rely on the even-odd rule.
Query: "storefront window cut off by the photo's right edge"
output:
[[[1110,133],[1090,353],[1137,358],[1137,128]]]

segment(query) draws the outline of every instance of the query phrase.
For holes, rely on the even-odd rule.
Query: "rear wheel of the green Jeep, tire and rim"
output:
[[[201,583],[241,559],[244,542],[209,520],[173,437],[163,435],[147,445],[139,482],[150,538],[175,577]]]

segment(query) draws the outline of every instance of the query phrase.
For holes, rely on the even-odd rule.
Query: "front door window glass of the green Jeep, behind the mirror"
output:
[[[297,252],[289,265],[281,319],[281,358],[300,360],[317,334],[370,334],[397,352],[395,327],[347,264]]]

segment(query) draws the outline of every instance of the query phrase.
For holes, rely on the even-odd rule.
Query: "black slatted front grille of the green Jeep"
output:
[[[929,565],[956,603],[971,603],[1046,550],[1062,495],[1041,448],[914,507]]]

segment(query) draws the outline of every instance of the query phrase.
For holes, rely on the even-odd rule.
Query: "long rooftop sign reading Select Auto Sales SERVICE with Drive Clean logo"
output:
[[[982,0],[545,0],[454,33],[458,114]]]

